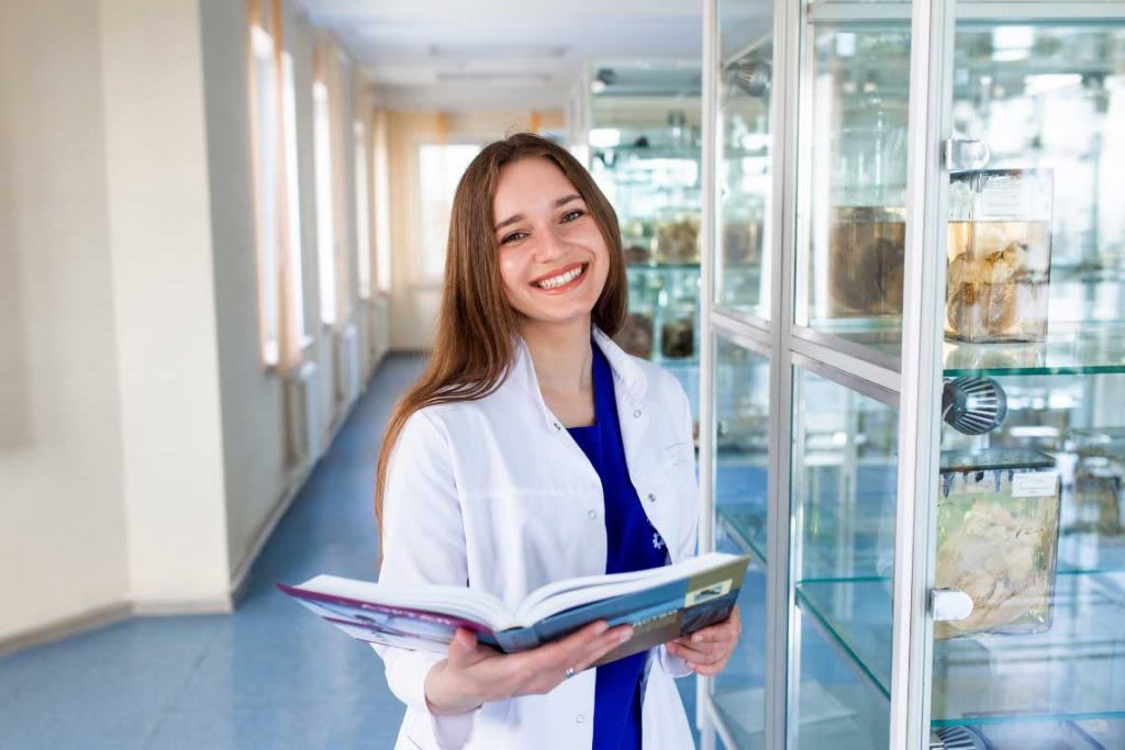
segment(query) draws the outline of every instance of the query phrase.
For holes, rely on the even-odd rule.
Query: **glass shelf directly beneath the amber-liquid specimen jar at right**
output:
[[[944,373],[1096,374],[1125,372],[1125,328],[1120,325],[1052,326],[1041,343],[944,343]]]

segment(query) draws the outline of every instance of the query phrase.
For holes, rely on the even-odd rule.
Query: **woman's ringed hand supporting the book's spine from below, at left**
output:
[[[564,639],[521,653],[501,653],[458,629],[449,656],[430,669],[425,697],[434,714],[464,714],[485,703],[543,695],[632,638],[632,627],[591,623]]]

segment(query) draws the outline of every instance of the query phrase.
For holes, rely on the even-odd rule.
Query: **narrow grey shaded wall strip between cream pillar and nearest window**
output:
[[[246,76],[246,8],[232,0],[202,0],[210,236],[218,328],[226,553],[231,576],[249,562],[287,487],[281,380],[263,367],[258,327],[258,260],[254,236]]]

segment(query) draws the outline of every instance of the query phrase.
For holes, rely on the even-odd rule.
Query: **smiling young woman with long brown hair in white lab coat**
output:
[[[616,216],[564,148],[486,146],[453,199],[429,367],[379,457],[380,580],[531,590],[694,554],[692,416],[667,372],[611,340],[626,314]],[[595,623],[502,654],[457,632],[449,653],[377,647],[407,705],[397,748],[692,747],[673,677],[714,675],[726,623],[587,670],[631,636]]]

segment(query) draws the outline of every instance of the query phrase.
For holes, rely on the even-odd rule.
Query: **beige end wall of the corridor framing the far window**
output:
[[[441,286],[413,278],[413,254],[418,252],[417,147],[438,143],[444,134],[450,142],[486,143],[531,127],[532,112],[440,112],[389,111],[387,138],[390,172],[390,346],[429,349],[441,305]],[[562,112],[540,114],[541,128],[561,128]]]

